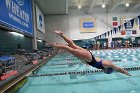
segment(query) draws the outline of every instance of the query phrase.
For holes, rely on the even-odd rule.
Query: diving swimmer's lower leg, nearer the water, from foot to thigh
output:
[[[53,47],[56,47],[58,49],[66,50],[66,51],[70,52],[75,57],[77,57],[77,58],[79,58],[81,60],[85,60],[85,61],[88,61],[88,62],[90,62],[92,60],[91,54],[88,51],[84,50],[84,49],[82,49],[82,50],[74,49],[74,48],[69,47],[67,45],[56,44],[56,43],[52,43],[50,45],[53,46]]]

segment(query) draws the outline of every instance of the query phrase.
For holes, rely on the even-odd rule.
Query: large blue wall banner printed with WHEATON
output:
[[[0,24],[33,34],[32,0],[1,0]]]

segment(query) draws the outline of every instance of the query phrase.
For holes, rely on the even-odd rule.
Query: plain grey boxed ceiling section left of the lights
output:
[[[42,12],[47,14],[68,14],[68,0],[35,0]]]

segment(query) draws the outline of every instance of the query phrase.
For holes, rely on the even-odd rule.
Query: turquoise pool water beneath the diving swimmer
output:
[[[93,55],[112,60],[120,67],[140,66],[140,48],[96,50]],[[72,64],[75,63],[75,64]],[[60,53],[38,69],[35,74],[87,71],[87,66],[69,53]],[[129,71],[132,76],[114,72],[28,77],[17,93],[140,93],[140,70]]]

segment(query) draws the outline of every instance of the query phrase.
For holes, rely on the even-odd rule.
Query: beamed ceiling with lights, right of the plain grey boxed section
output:
[[[125,11],[133,11],[140,8],[140,0],[69,0],[69,9],[76,9],[78,4],[82,6],[82,9],[101,9],[102,4],[106,5],[106,11],[112,12],[117,8],[123,8]],[[126,7],[125,4],[129,3],[130,6]]]

